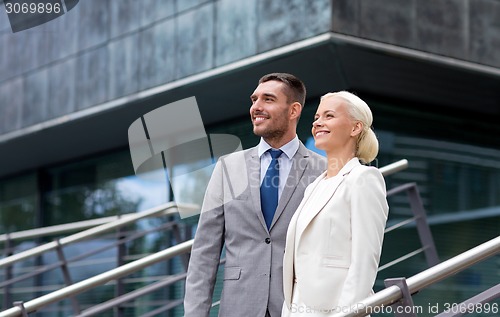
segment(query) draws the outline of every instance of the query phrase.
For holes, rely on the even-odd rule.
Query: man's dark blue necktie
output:
[[[264,214],[267,229],[271,227],[274,212],[276,211],[276,207],[278,207],[278,188],[280,184],[278,157],[283,151],[269,149],[268,152],[271,154],[272,160],[260,185],[260,206]]]

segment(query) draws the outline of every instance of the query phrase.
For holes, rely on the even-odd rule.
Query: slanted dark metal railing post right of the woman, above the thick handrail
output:
[[[415,222],[417,224],[418,236],[422,247],[424,248],[425,258],[427,259],[427,264],[432,267],[439,263],[439,257],[436,251],[436,245],[434,244],[434,239],[432,238],[431,229],[429,223],[427,222],[427,216],[424,210],[424,204],[420,198],[418,188],[416,184],[413,184],[407,189],[408,199],[410,200],[410,207],[415,215]]]

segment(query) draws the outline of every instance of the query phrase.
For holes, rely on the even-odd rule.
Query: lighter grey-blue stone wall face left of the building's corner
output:
[[[330,29],[330,0],[84,0],[12,33],[0,8],[0,134]]]

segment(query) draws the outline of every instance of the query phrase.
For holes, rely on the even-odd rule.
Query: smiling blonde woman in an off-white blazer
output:
[[[360,164],[378,153],[368,105],[348,92],[329,93],[314,119],[315,145],[328,167],[306,189],[288,227],[282,317],[331,316],[368,297],[388,216],[382,174]]]

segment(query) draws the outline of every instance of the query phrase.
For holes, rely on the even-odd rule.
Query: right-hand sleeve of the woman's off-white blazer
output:
[[[356,169],[355,169],[356,170]],[[368,297],[377,276],[388,215],[385,182],[380,171],[363,167],[349,182],[351,202],[351,265],[339,307],[351,307]]]

